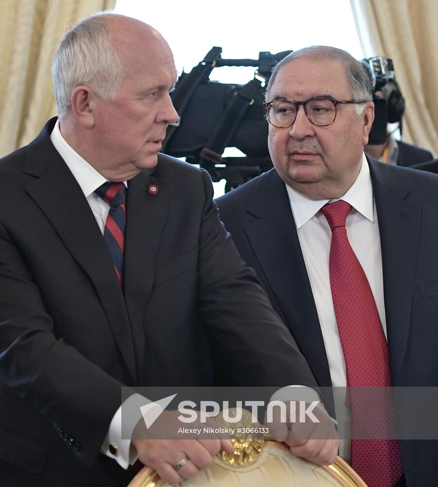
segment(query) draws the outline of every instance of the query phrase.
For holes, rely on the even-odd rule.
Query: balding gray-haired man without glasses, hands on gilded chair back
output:
[[[208,174],[159,154],[177,119],[163,37],[89,17],[61,41],[53,79],[59,117],[0,161],[1,485],[127,485],[137,457],[176,484],[230,443],[134,435],[141,416],[124,436],[121,389],[202,383],[198,327],[248,385],[315,381]],[[126,402],[139,413],[145,398]],[[297,446],[336,457],[336,439]]]

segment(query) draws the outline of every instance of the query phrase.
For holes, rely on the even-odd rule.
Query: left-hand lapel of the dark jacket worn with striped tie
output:
[[[93,281],[115,340],[136,382],[129,318],[111,256],[82,190],[49,139],[49,124],[27,149],[23,170],[37,177],[26,189]]]

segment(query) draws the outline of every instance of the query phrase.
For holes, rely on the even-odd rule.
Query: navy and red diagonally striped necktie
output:
[[[108,181],[102,186],[99,186],[95,190],[95,193],[110,205],[103,238],[113,259],[117,279],[120,285],[122,285],[123,253],[125,250],[126,186],[123,183],[112,183]]]

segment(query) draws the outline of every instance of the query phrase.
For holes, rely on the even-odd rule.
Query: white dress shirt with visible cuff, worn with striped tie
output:
[[[83,159],[67,144],[59,130],[59,120],[57,120],[57,123],[50,134],[50,140],[55,146],[55,149],[59,152],[60,156],[64,159],[65,164],[67,164],[68,168],[72,172],[77,184],[82,189],[85,198],[93,211],[97,225],[99,225],[100,231],[103,235],[110,206],[102,198],[97,196],[94,191],[108,180],[104,178],[102,174],[97,172],[92,166],[90,166],[85,159]],[[127,186],[126,181],[124,181],[124,184]],[[124,407],[126,406],[127,408],[130,408],[130,411],[135,409],[129,406],[131,401],[133,401],[133,403],[138,403],[139,405],[146,405],[151,402],[149,399],[141,396],[140,394],[133,394],[124,402]],[[138,412],[138,418],[136,418],[136,420],[132,423],[132,431],[136,425],[136,422],[141,419],[139,409]],[[126,438],[122,439],[121,423],[122,406],[120,406],[120,408],[114,414],[107,436],[102,444],[101,452],[111,458],[114,458],[114,460],[116,460],[121,467],[128,468],[128,466],[130,464],[132,465],[137,459],[137,454],[136,450],[131,446],[131,440]],[[126,428],[124,428],[124,432],[125,431],[127,431]],[[115,447],[113,451],[115,451],[116,454],[113,454],[109,450],[110,445]]]

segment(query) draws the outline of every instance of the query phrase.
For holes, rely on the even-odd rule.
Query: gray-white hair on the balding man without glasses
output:
[[[114,99],[123,78],[122,64],[114,52],[108,27],[110,11],[93,14],[67,31],[52,63],[58,117],[71,107],[77,86],[92,88],[104,101]]]

